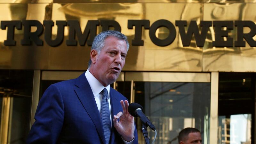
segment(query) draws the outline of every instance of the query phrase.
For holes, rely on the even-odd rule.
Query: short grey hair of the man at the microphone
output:
[[[125,36],[124,34],[122,34],[119,31],[116,31],[116,30],[103,31],[99,35],[95,36],[94,40],[92,42],[91,50],[96,50],[98,52],[98,54],[100,54],[102,48],[105,46],[105,39],[108,36],[114,36],[117,39],[124,40],[126,42],[127,51],[129,50],[130,45],[129,45],[129,42],[127,40],[127,36]],[[90,59],[89,62],[88,62],[88,69],[91,67],[91,64],[92,64],[92,60]]]

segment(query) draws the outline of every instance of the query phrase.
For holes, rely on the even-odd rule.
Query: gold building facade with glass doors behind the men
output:
[[[145,108],[158,130],[157,144],[177,143],[185,127],[199,129],[204,144],[255,143],[256,45],[247,38],[244,46],[235,46],[241,35],[236,21],[255,25],[254,8],[253,0],[0,1],[0,143],[25,143],[44,90],[87,69],[93,28],[97,34],[118,29],[105,27],[106,22],[119,25],[131,45],[123,72],[111,86]],[[147,24],[131,26],[132,20]],[[51,35],[46,21],[53,22]],[[51,46],[49,41],[61,35],[58,21],[65,23],[63,38]],[[194,21],[200,36],[203,21],[211,26],[205,38],[192,35],[183,46],[177,21],[187,22],[185,33]],[[75,33],[72,22],[80,28]],[[91,22],[96,24],[89,27]],[[244,34],[252,32],[253,41],[254,25],[242,27]],[[137,44],[140,35],[142,44]],[[203,46],[199,40],[205,40]],[[214,46],[218,40],[231,46]],[[139,119],[136,124],[143,144]]]

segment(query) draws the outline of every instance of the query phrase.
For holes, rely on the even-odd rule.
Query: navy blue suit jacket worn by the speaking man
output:
[[[110,100],[113,120],[113,115],[123,111],[120,101],[127,99],[110,87]],[[49,86],[39,101],[35,120],[28,144],[106,144],[100,113],[84,73]],[[134,136],[133,143],[138,144],[136,126]],[[110,141],[123,143],[114,126]]]

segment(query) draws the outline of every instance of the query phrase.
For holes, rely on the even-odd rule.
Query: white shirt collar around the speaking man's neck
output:
[[[98,95],[104,88],[106,88],[108,90],[108,99],[109,99],[110,85],[104,87],[94,76],[92,76],[89,69],[86,70],[85,77],[92,89],[92,93],[93,93],[94,97],[96,95]]]

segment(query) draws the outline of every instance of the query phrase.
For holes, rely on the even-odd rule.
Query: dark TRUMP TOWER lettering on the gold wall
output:
[[[57,20],[56,21],[57,36],[52,39],[52,27],[54,21],[44,20],[43,24],[38,20],[10,20],[1,21],[1,29],[7,30],[6,40],[4,45],[15,46],[16,43],[21,45],[32,45],[34,42],[38,46],[44,45],[40,36],[44,33],[44,40],[46,44],[52,47],[59,46],[63,43],[64,28],[69,27],[67,46],[76,46],[77,44],[84,46],[92,45],[94,36],[97,34],[97,27],[101,26],[102,31],[113,27],[114,30],[121,31],[121,26],[115,20],[88,20],[84,30],[81,29],[78,20]],[[206,39],[207,31],[210,27],[215,28],[215,41],[212,41],[212,46],[215,47],[245,47],[245,41],[251,46],[256,46],[256,41],[253,36],[256,34],[256,25],[252,21],[200,21],[199,26],[196,21],[190,21],[189,26],[185,20],[176,20],[175,26],[179,28],[180,37],[183,47],[190,45],[191,38],[194,35],[196,45],[203,47]],[[144,40],[141,37],[142,28],[149,29],[150,40],[157,46],[168,46],[172,44],[176,38],[176,29],[172,22],[168,20],[156,20],[150,25],[149,20],[128,20],[128,29],[134,30],[134,38],[132,45],[142,46]],[[31,28],[36,27],[36,31],[31,32]],[[165,39],[156,37],[156,30],[160,27],[166,27],[169,30],[169,35]],[[249,33],[244,33],[244,27],[250,28]],[[237,39],[228,37],[229,30],[237,29]],[[15,40],[14,31],[23,29],[23,39],[20,42]],[[187,29],[187,30],[185,30]],[[201,32],[200,32],[200,30]],[[223,38],[226,37],[226,40]],[[77,43],[78,42],[78,43]],[[233,44],[234,42],[234,44]]]

